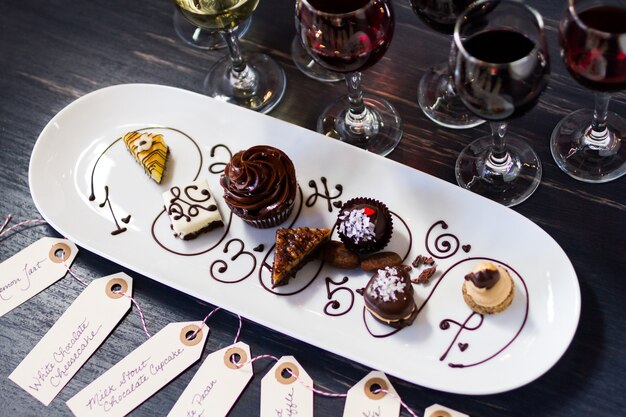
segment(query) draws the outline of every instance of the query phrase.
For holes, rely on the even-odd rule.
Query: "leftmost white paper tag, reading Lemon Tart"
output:
[[[0,264],[0,317],[54,284],[67,273],[78,248],[44,237]]]

